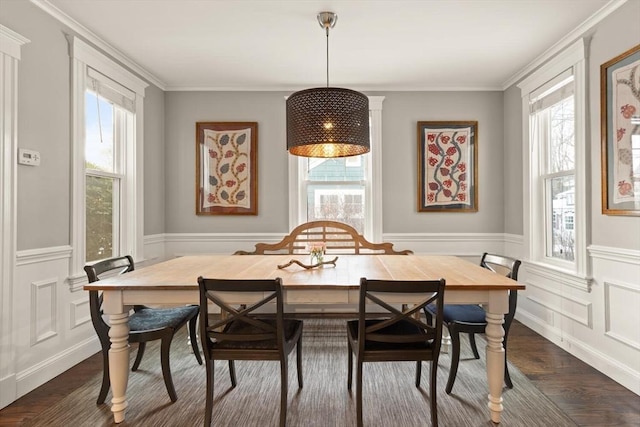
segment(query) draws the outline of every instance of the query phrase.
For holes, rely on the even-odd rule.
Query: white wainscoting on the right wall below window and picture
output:
[[[588,252],[586,280],[525,262],[516,319],[640,395],[640,251]]]

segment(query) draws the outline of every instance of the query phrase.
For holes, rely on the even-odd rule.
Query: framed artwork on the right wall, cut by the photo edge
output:
[[[640,216],[640,45],[600,66],[602,213]]]

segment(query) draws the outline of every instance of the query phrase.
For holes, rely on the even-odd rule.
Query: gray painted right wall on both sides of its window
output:
[[[621,31],[624,29],[624,31]],[[600,65],[640,44],[640,1],[629,1],[605,20],[592,28],[588,35],[591,44],[587,57],[587,144],[591,225],[591,243],[615,248],[638,249],[640,244],[640,220],[637,217],[602,214],[601,186],[601,135],[600,135]],[[518,82],[519,83],[519,82]],[[512,85],[504,92],[505,115],[505,176],[510,177],[506,186],[505,232],[522,233],[522,174],[517,173],[522,164],[522,104],[520,89]],[[512,180],[512,181],[511,181]],[[511,205],[511,201],[515,201]]]

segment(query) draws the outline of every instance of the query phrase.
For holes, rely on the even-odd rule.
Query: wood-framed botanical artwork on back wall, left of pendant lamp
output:
[[[258,123],[196,123],[196,215],[258,214]]]

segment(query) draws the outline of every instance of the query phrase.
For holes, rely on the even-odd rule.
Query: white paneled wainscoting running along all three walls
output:
[[[275,233],[151,235],[145,237],[144,259],[137,262],[229,254],[281,238]],[[523,253],[522,237],[506,234],[385,234],[383,240],[396,249],[472,262],[484,251]],[[86,292],[68,279],[71,251],[63,246],[17,253],[12,308],[2,313],[3,324],[10,325],[11,334],[3,339],[11,351],[3,354],[0,367],[0,408],[99,350]],[[520,281],[527,290],[520,295],[516,318],[640,395],[640,251],[593,246],[589,253],[591,281],[549,274],[525,262]]]

